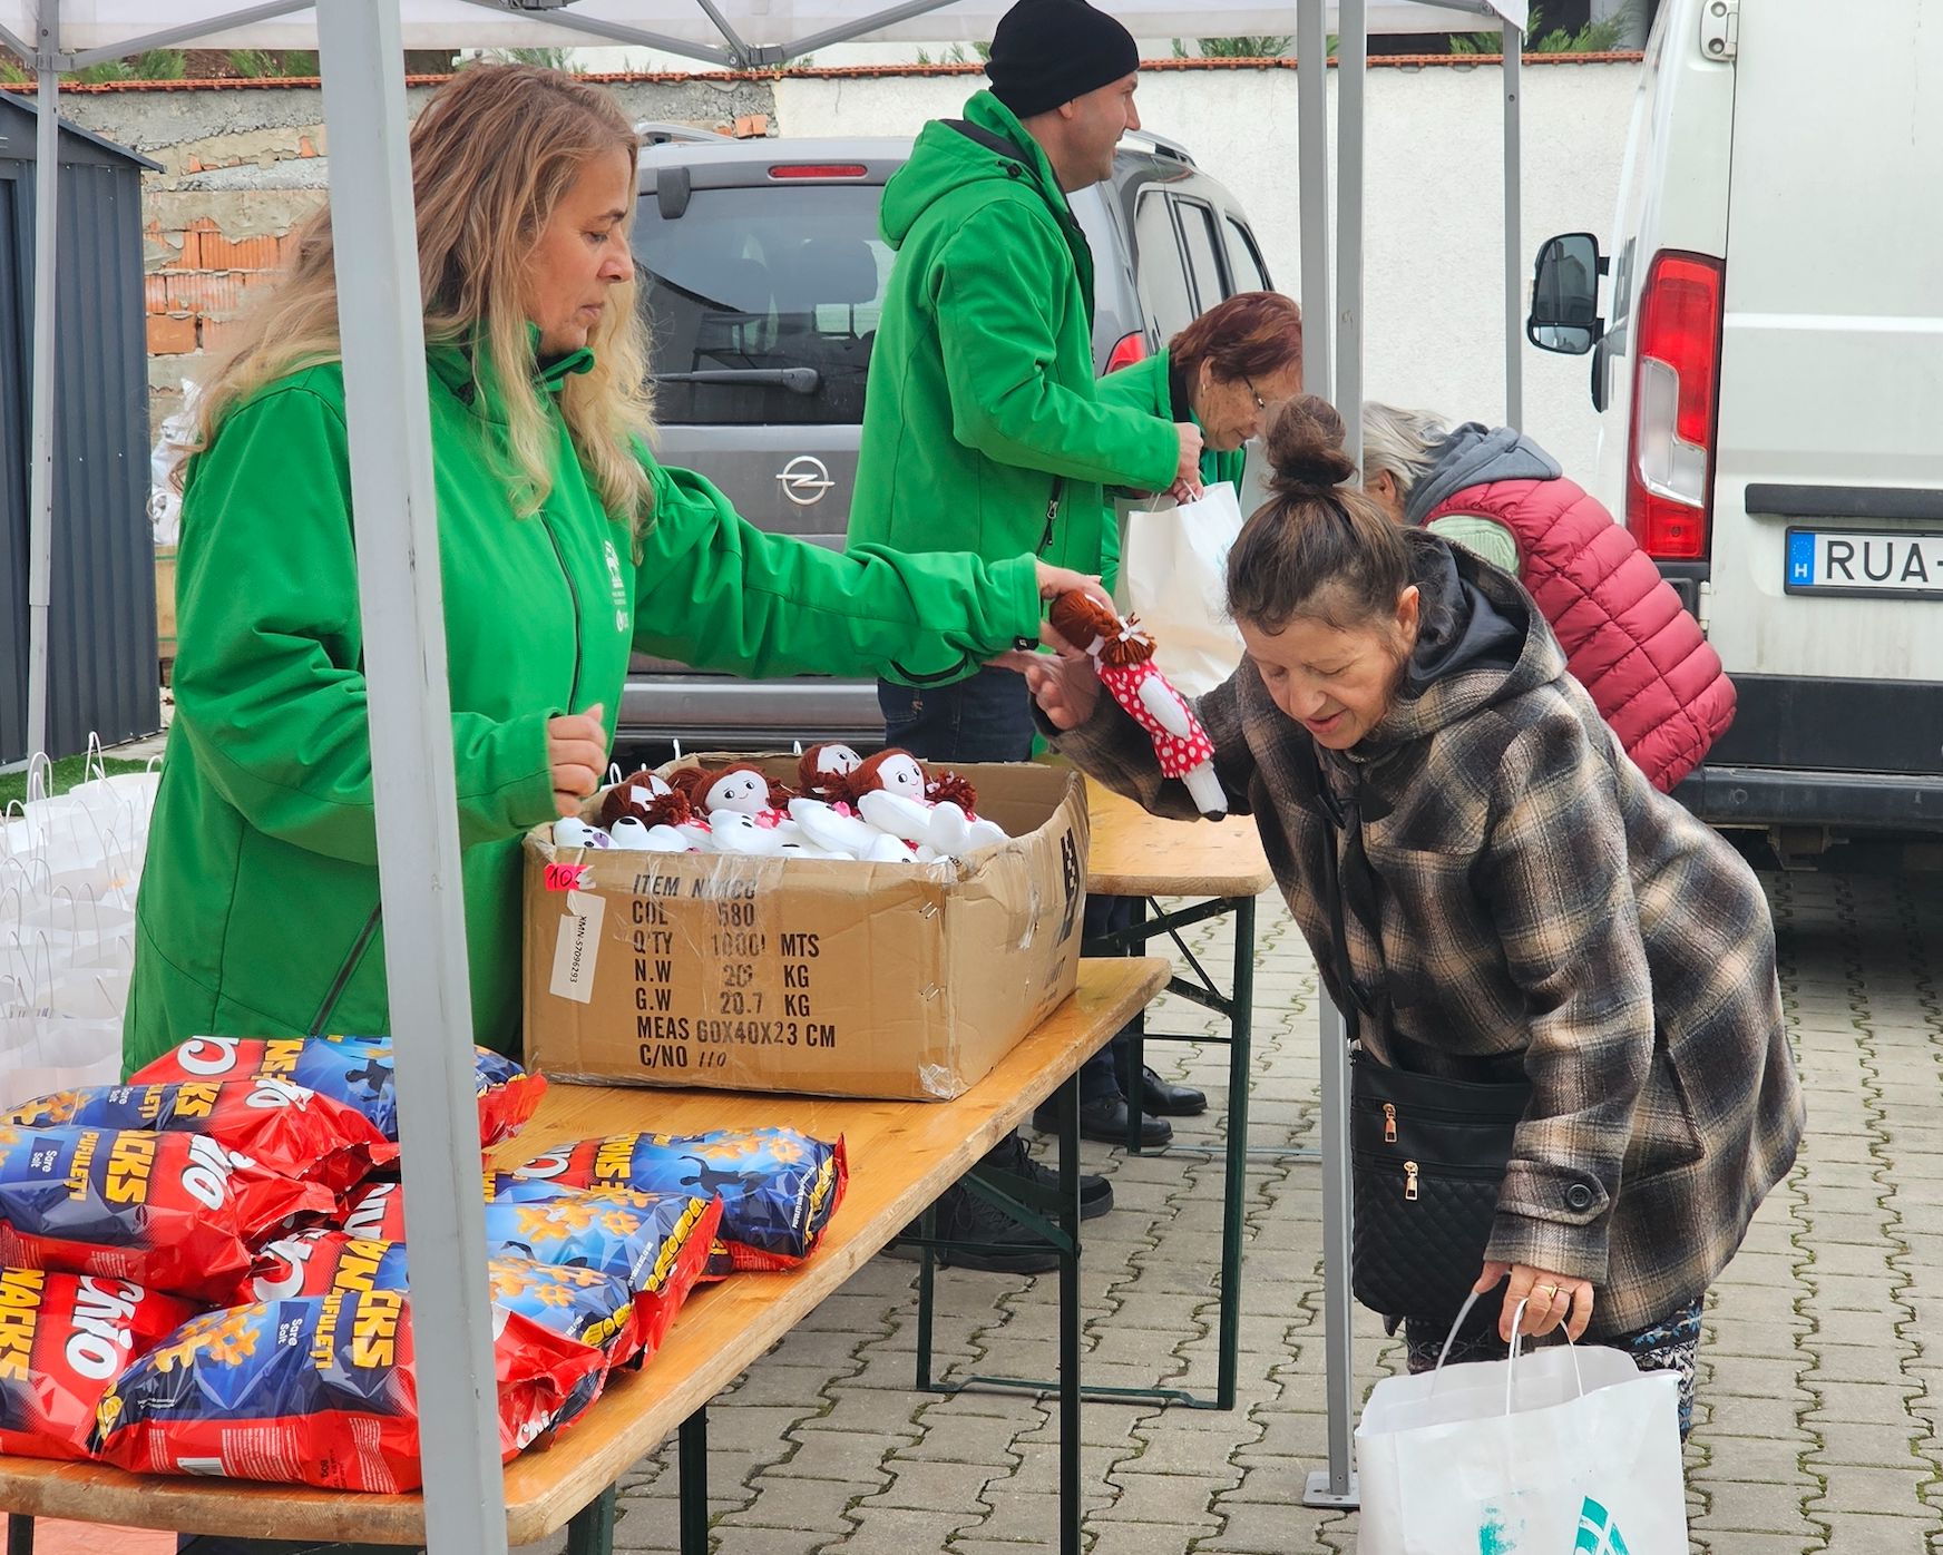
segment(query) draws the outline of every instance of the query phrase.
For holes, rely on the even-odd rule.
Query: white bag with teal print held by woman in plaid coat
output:
[[[1376,1384],[1360,1555],[1687,1555],[1679,1378],[1558,1345]]]

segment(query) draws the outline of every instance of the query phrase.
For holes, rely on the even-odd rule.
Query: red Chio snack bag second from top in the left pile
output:
[[[321,1182],[332,1193],[398,1158],[398,1147],[358,1108],[274,1075],[56,1090],[0,1114],[0,1123],[206,1133],[270,1172]]]

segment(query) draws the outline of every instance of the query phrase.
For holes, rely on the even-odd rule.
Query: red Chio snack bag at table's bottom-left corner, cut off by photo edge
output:
[[[0,1269],[0,1452],[87,1458],[109,1384],[194,1314],[124,1279]]]

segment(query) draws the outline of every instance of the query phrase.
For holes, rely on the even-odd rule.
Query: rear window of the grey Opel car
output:
[[[659,422],[863,420],[892,260],[876,229],[880,194],[878,185],[698,189],[674,220],[653,194],[639,202],[633,257]]]

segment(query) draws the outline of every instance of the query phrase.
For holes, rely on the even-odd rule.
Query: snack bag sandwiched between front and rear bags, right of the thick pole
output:
[[[494,1258],[511,1254],[620,1275],[635,1293],[641,1343],[653,1353],[707,1260],[719,1217],[713,1197],[692,1193],[620,1197],[542,1190],[521,1201],[488,1201],[486,1250]],[[346,1207],[344,1228],[354,1236],[404,1240],[400,1184],[363,1188]]]

